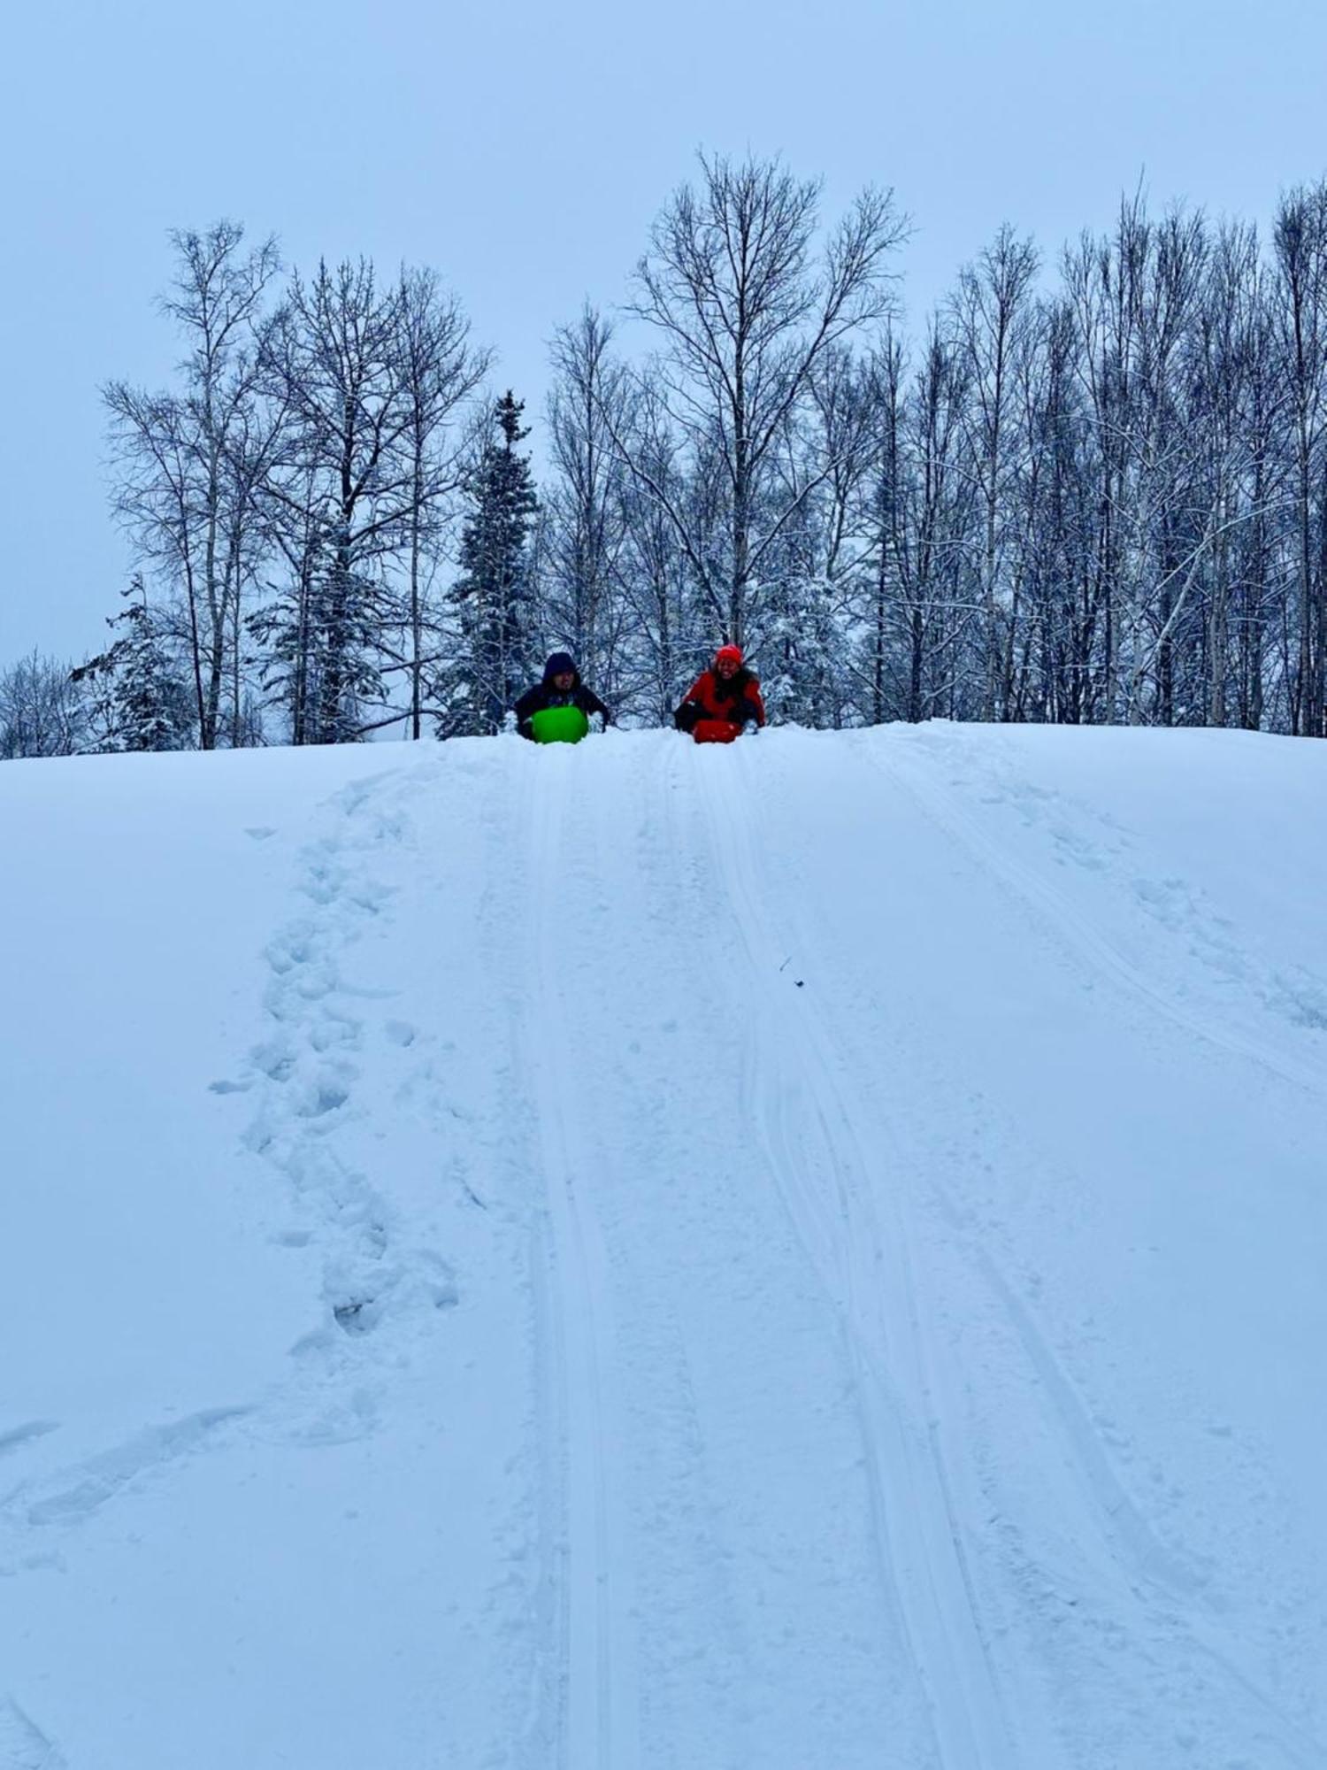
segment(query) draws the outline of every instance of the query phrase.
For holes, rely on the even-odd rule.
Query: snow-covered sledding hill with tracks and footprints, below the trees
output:
[[[0,768],[0,1766],[1325,1765],[1325,804]]]

